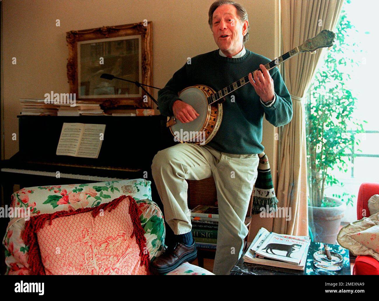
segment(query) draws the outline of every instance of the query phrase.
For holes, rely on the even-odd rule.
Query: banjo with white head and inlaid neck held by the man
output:
[[[335,33],[330,30],[323,30],[315,37],[307,39],[300,46],[267,63],[265,67],[267,70],[273,69],[301,52],[315,54],[319,48],[330,48],[333,46],[334,39]],[[222,121],[222,102],[225,100],[225,96],[247,83],[249,83],[249,77],[246,75],[217,92],[205,85],[195,85],[180,91],[178,93],[179,98],[190,104],[199,113],[199,116],[189,123],[182,123],[174,116],[168,117],[166,126],[170,128],[174,140],[198,145],[205,145],[210,142],[215,137]]]

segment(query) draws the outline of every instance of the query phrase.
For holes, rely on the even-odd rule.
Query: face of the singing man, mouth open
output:
[[[221,5],[213,13],[213,38],[225,54],[235,55],[242,50],[243,36],[246,35],[248,21],[241,23],[234,5]]]

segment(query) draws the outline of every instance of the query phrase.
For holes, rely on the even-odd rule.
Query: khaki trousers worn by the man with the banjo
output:
[[[152,173],[164,217],[175,234],[191,231],[186,180],[213,175],[219,207],[215,274],[229,274],[242,255],[243,240],[248,234],[244,220],[257,179],[258,162],[257,154],[227,154],[190,143],[158,151],[153,159]]]

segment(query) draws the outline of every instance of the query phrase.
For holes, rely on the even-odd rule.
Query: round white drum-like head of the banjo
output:
[[[199,116],[188,123],[182,123],[179,119],[175,118],[175,124],[170,128],[171,132],[174,136],[176,136],[176,133],[179,133],[180,142],[201,142],[203,138],[201,131],[207,121],[207,95],[200,88],[188,87],[179,93],[179,97],[182,101],[191,105],[199,113]]]

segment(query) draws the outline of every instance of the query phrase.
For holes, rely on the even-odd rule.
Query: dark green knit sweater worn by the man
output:
[[[219,55],[219,50],[191,58],[174,73],[166,86],[158,91],[158,105],[162,115],[172,116],[172,104],[180,99],[178,92],[186,87],[202,84],[219,91],[236,80],[265,65],[269,60],[246,49],[240,58]],[[231,154],[259,154],[262,142],[263,114],[269,123],[282,126],[291,121],[292,101],[277,67],[269,71],[274,80],[276,100],[271,107],[262,104],[254,87],[248,83],[226,96],[223,102],[221,126],[208,145],[215,150]],[[235,101],[231,101],[231,95]]]

